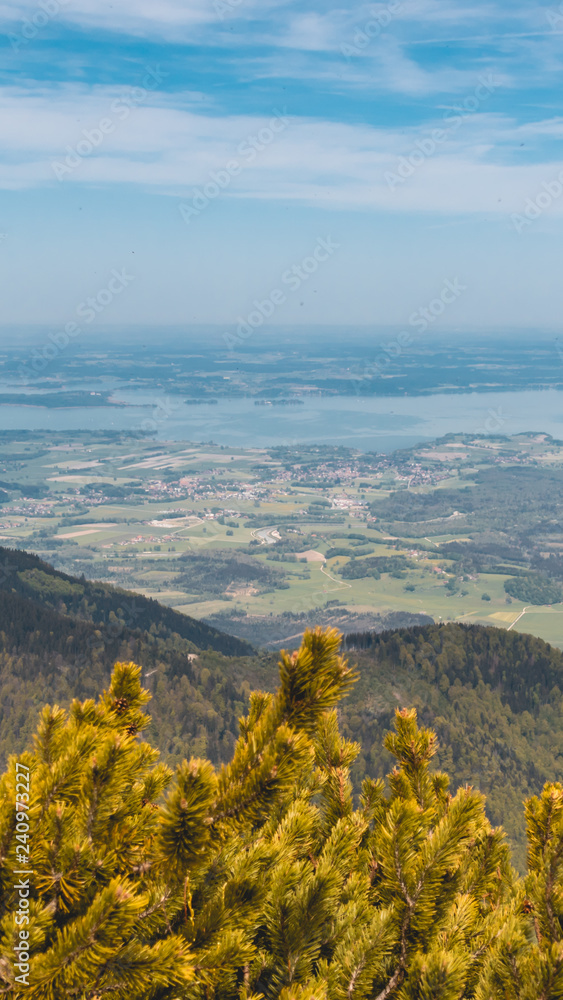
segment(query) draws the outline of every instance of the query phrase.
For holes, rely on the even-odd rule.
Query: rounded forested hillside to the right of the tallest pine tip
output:
[[[524,864],[521,805],[563,760],[563,654],[534,636],[477,625],[426,625],[347,636],[360,679],[341,706],[362,752],[354,766],[383,776],[381,744],[397,707],[413,706],[438,734],[437,759],[456,787],[487,794],[489,815]]]

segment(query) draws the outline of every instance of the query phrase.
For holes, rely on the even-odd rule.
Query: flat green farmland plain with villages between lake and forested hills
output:
[[[387,456],[14,433],[0,451],[0,541],[196,617],[338,605],[563,647],[563,604],[530,606],[504,586],[561,578],[561,476],[563,446],[546,435],[452,435]],[[369,570],[385,557],[404,565]]]

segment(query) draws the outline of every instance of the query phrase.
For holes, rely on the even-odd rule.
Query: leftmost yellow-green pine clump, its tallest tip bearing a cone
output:
[[[149,721],[139,674],[117,664],[98,705],[75,701],[68,715],[46,708],[33,752],[20,758],[31,776],[33,875],[28,920],[19,926],[15,759],[2,779],[0,974],[8,995],[136,997],[147,995],[147,982],[183,986],[193,975],[185,940],[166,933],[166,881],[152,875],[155,800],[171,774],[137,740]],[[30,985],[12,993],[20,930],[29,934],[32,971]]]

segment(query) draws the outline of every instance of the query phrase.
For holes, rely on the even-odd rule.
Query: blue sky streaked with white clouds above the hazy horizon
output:
[[[0,325],[558,330],[563,3],[0,0]]]

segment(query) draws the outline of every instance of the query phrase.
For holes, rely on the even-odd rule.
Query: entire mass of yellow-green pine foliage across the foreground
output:
[[[355,674],[339,644],[315,630],[282,654],[277,693],[251,696],[219,771],[192,759],[173,775],[141,741],[148,694],[132,663],[97,704],[44,710],[17,762],[31,776],[29,985],[13,950],[15,758],[0,783],[2,995],[563,997],[563,789],[527,804],[520,880],[483,797],[449,793],[434,733],[403,710],[388,783],[366,780],[355,806],[360,748],[336,709]]]

